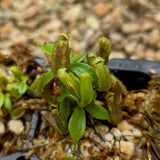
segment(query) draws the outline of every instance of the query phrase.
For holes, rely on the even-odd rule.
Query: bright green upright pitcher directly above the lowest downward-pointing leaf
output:
[[[84,107],[93,100],[93,86],[90,79],[90,74],[83,72],[80,75],[80,81],[80,101],[82,107]]]

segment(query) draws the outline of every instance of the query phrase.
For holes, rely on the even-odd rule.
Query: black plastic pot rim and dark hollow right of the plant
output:
[[[153,71],[160,76],[160,63],[147,60],[112,59],[108,68],[128,90],[146,88]]]

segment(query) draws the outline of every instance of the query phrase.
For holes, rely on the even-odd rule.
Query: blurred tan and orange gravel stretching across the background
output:
[[[97,40],[105,36],[112,44],[111,58],[160,62],[160,2],[156,0],[6,0],[0,5],[0,19],[0,52],[6,55],[12,46],[24,45],[43,57],[29,39],[44,44],[67,32],[75,54],[97,52]]]

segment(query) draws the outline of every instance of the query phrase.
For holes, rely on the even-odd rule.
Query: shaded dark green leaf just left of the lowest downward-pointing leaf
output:
[[[59,105],[59,114],[62,117],[62,119],[65,121],[67,124],[68,117],[70,114],[70,103],[69,100],[66,98],[64,99],[60,105]]]

